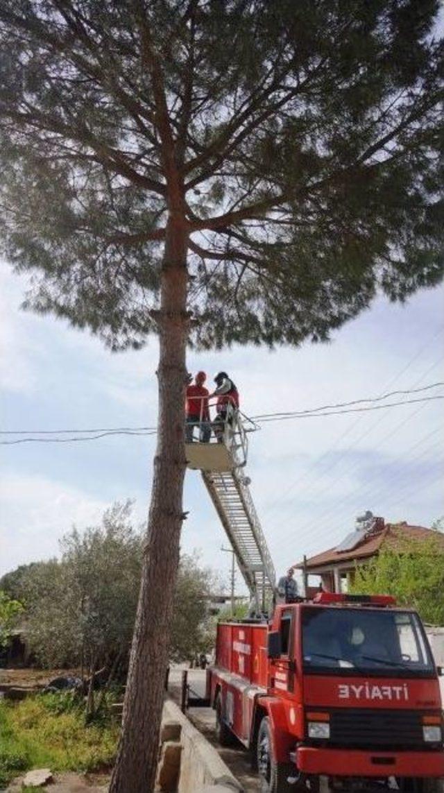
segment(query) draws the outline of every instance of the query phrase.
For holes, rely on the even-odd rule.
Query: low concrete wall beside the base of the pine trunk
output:
[[[216,749],[170,699],[163,706],[163,722],[177,722],[181,726],[182,752],[178,793],[242,793],[242,785],[221,760]]]

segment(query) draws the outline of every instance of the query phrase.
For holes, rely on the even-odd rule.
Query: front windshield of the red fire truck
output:
[[[302,653],[307,672],[434,674],[423,628],[411,611],[304,608]]]

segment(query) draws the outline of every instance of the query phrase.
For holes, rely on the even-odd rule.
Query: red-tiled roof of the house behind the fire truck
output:
[[[381,531],[369,534],[353,550],[337,551],[335,548],[324,550],[322,554],[316,554],[306,560],[306,569],[332,565],[337,562],[354,561],[367,558],[377,554],[381,545],[387,544],[390,547],[400,547],[404,539],[424,539],[431,536],[439,538],[444,548],[444,534],[427,529],[423,526],[409,526],[408,523],[386,523]],[[304,562],[294,565],[298,569],[304,568]]]

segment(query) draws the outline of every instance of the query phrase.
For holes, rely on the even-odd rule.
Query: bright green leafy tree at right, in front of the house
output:
[[[400,547],[383,547],[377,557],[357,565],[350,592],[393,595],[400,606],[415,608],[425,623],[444,625],[442,538],[406,539]]]

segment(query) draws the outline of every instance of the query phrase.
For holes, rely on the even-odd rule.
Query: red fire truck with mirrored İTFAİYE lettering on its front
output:
[[[207,697],[261,790],[425,793],[444,776],[437,668],[415,611],[319,593],[270,623],[220,623]]]

